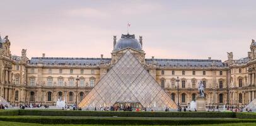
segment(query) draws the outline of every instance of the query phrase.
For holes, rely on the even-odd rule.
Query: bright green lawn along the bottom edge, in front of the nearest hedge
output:
[[[61,125],[56,125],[56,124],[37,124],[37,123],[19,123],[19,122],[3,122],[0,121],[0,125],[4,126],[82,126],[82,125],[72,125],[72,124],[61,124]],[[205,126],[219,126],[220,124],[209,124]],[[229,124],[221,124],[224,126],[247,126],[247,125],[256,125],[256,123],[229,123]],[[112,125],[83,125],[83,126],[112,126]],[[143,126],[143,125],[141,125]],[[148,126],[148,125],[147,125]],[[203,126],[203,125],[197,125],[197,126]]]

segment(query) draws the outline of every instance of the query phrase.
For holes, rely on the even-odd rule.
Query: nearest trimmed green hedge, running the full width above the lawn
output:
[[[255,119],[237,118],[124,118],[124,117],[22,117],[0,116],[1,121],[42,124],[102,124],[102,125],[199,125],[213,123],[256,123]]]

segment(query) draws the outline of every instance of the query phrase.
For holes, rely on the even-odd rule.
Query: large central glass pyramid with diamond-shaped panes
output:
[[[99,110],[106,106],[128,106],[133,110],[177,108],[170,95],[144,69],[129,49],[78,106],[86,110],[93,110],[95,107]]]

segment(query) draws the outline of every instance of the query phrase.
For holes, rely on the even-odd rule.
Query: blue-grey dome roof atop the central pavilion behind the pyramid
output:
[[[136,50],[141,50],[142,49],[141,43],[139,43],[136,40],[135,35],[129,35],[129,33],[127,35],[122,34],[122,37],[120,38],[120,40],[115,45],[114,50],[122,50],[122,49],[125,49],[127,47],[130,47],[130,48],[136,49]]]

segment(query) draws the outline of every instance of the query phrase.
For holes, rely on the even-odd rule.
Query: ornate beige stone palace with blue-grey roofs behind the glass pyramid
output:
[[[21,56],[11,55],[10,46],[8,36],[0,37],[0,96],[12,105],[55,105],[58,99],[65,99],[69,105],[80,103],[127,49],[132,50],[175,103],[179,98],[181,106],[195,100],[199,81],[206,87],[206,106],[245,106],[256,98],[254,40],[247,57],[235,60],[230,52],[224,62],[211,57],[146,59],[143,37],[137,40],[135,35],[129,34],[119,40],[113,36],[111,58],[103,55],[100,58],[45,57],[42,54],[42,57],[28,59],[26,49],[22,49]]]

